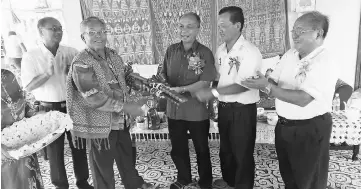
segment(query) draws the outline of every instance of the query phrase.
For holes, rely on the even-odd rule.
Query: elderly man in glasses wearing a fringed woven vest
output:
[[[114,161],[127,189],[153,188],[135,169],[129,117],[144,115],[142,104],[129,102],[129,67],[105,47],[105,23],[89,17],[80,24],[87,48],[73,60],[67,79],[68,114],[75,141],[90,145],[89,162],[96,189],[114,189]],[[78,148],[84,147],[77,143]]]

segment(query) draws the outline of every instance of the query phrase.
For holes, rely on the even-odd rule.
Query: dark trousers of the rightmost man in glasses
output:
[[[332,118],[277,123],[276,151],[286,189],[326,188]]]

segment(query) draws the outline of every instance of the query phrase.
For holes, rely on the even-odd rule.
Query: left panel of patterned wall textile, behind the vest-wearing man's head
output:
[[[149,0],[81,0],[84,17],[104,19],[107,46],[124,62],[153,64]]]

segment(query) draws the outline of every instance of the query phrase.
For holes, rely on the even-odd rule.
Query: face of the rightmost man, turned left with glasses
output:
[[[306,20],[296,20],[292,30],[294,48],[300,55],[306,55],[314,49],[317,31],[313,30]]]

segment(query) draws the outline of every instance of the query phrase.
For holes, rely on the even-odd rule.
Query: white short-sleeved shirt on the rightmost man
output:
[[[309,64],[303,82],[296,75],[300,67]],[[314,100],[307,106],[300,107],[276,99],[278,115],[292,120],[311,119],[332,111],[332,100],[335,85],[339,76],[337,63],[334,62],[323,46],[312,53],[299,59],[299,53],[291,49],[283,55],[280,63],[270,75],[278,86],[284,89],[303,90],[311,95]]]

